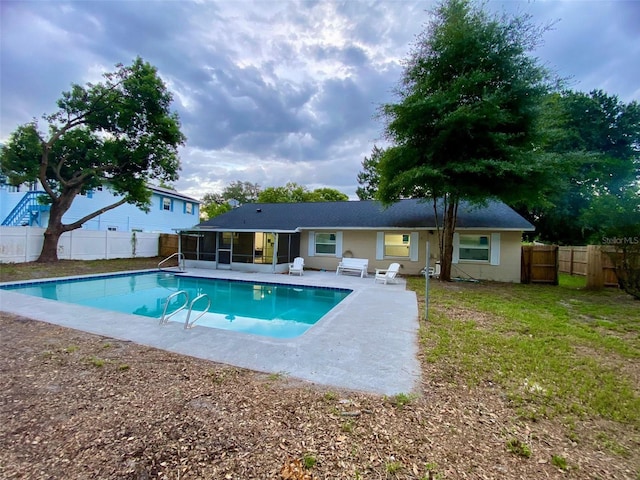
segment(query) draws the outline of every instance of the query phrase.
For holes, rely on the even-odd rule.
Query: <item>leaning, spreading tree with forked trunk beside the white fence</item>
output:
[[[148,209],[147,181],[177,179],[177,148],[185,141],[172,95],[152,65],[137,58],[116,65],[101,83],[72,85],[58,111],[44,116],[47,132],[34,121],[19,126],[0,157],[10,182],[39,181],[50,197],[49,224],[39,262],[58,259],[58,239],[124,203]],[[74,198],[99,185],[122,199],[64,224]]]

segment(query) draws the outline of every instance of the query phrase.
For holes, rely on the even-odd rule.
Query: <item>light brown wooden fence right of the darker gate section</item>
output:
[[[588,288],[617,287],[616,268],[610,257],[614,251],[602,245],[559,247],[560,272],[587,277]]]

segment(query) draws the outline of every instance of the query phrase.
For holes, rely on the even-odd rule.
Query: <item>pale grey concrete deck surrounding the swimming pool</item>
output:
[[[335,272],[303,276],[188,269],[185,275],[348,288],[353,292],[303,335],[275,339],[158,320],[0,290],[0,310],[89,333],[316,384],[383,395],[418,388],[418,306],[414,292]]]

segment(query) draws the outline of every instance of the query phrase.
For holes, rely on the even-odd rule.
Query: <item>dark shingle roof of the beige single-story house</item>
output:
[[[442,215],[439,223],[442,225]],[[200,223],[206,230],[296,231],[300,229],[435,228],[431,201],[400,200],[384,208],[375,201],[317,203],[250,203]],[[502,202],[486,205],[462,202],[457,228],[533,230],[534,227]]]

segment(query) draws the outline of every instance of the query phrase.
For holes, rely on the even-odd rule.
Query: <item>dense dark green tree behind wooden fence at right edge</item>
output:
[[[556,132],[545,149],[560,160],[563,174],[547,192],[546,204],[520,210],[543,241],[599,243],[613,227],[612,218],[624,222],[638,207],[629,198],[637,199],[640,179],[640,105],[600,90],[564,91],[544,105]],[[621,208],[623,216],[609,216]]]

